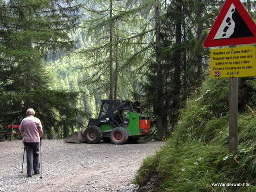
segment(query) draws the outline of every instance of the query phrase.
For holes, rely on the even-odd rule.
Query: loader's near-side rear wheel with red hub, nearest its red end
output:
[[[113,142],[114,144],[118,144],[118,145],[124,144],[127,142],[128,137],[129,137],[129,133],[123,127],[115,127],[110,132],[110,139],[111,139],[111,142]]]

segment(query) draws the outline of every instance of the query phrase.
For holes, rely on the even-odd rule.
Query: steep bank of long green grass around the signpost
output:
[[[209,78],[200,95],[186,101],[172,138],[144,160],[134,182],[143,186],[158,178],[155,192],[256,192],[256,83],[239,80],[235,153],[228,154],[228,79]]]

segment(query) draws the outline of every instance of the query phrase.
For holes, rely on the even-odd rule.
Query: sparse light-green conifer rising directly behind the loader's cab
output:
[[[84,79],[84,83],[93,83],[97,90],[107,93],[111,99],[122,96],[123,89],[128,88],[122,82],[127,80],[126,76],[134,77],[127,71],[134,71],[139,65],[130,55],[136,49],[143,49],[140,43],[145,41],[147,33],[138,23],[147,23],[143,17],[147,17],[149,7],[153,5],[153,0],[146,3],[143,0],[88,1],[88,17],[83,22],[88,46],[79,53],[90,61],[83,68],[96,71]],[[139,60],[139,55],[136,59]],[[128,64],[128,60],[132,61]]]

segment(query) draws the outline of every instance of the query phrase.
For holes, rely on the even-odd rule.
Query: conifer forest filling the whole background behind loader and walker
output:
[[[0,0],[0,126],[32,107],[45,138],[64,138],[101,99],[128,99],[167,138],[209,67],[202,43],[223,3]],[[255,17],[254,1],[243,4]]]

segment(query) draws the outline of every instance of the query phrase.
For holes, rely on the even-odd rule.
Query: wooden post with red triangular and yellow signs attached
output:
[[[211,50],[211,77],[229,78],[229,153],[238,149],[238,77],[256,76],[254,46],[236,45],[256,43],[256,25],[239,0],[226,0],[204,47],[229,46]]]

